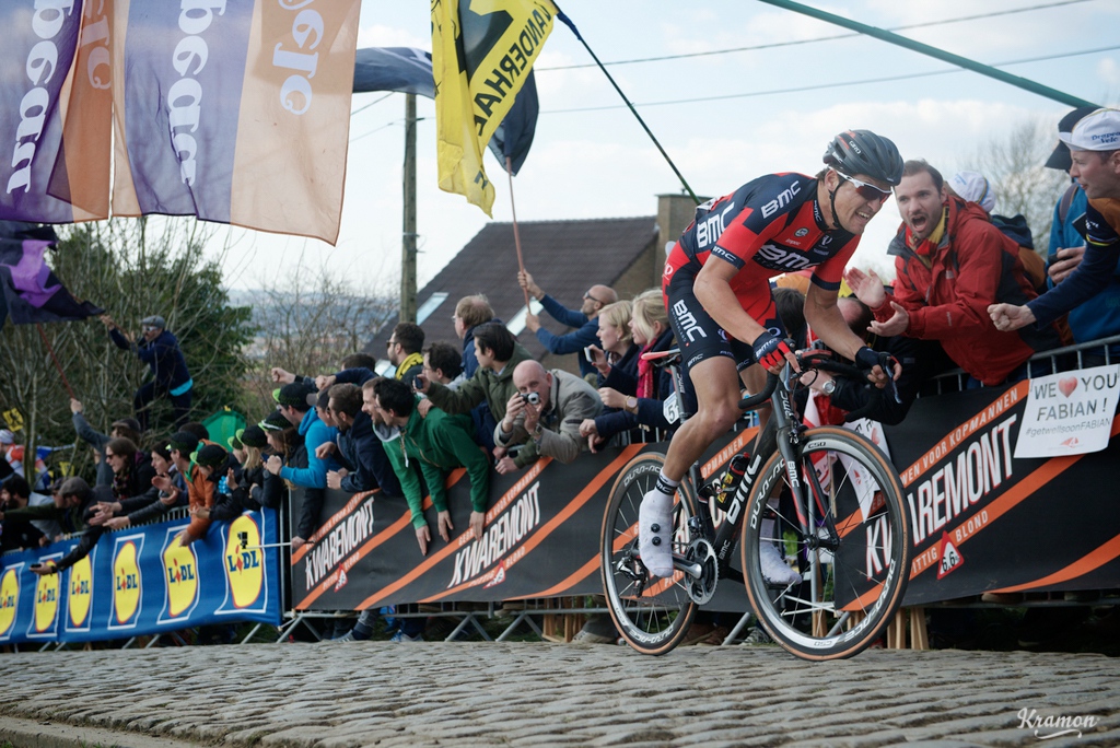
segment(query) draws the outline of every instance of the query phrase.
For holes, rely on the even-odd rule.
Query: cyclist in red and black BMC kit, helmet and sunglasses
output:
[[[698,206],[692,224],[669,253],[662,291],[698,410],[673,434],[657,483],[638,514],[638,550],[655,577],[673,573],[676,486],[741,415],[739,378],[758,392],[766,372],[778,374],[786,361],[796,367],[783,339],[771,278],[815,268],[805,296],[806,322],[830,348],[867,370],[869,381],[886,383],[878,354],[844,324],[837,291],[859,236],[902,178],[903,159],[886,138],[848,130],[829,143],[824,163],[815,177],[767,175]],[[892,374],[898,373],[895,366]],[[774,559],[763,559],[764,574],[788,583],[783,577],[792,570],[776,549],[771,550]],[[780,567],[773,565],[775,560]]]

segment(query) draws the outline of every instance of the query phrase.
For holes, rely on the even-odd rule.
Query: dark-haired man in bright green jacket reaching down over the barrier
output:
[[[457,467],[465,467],[470,477],[470,533],[476,540],[483,539],[486,522],[487,490],[489,488],[489,464],[486,456],[470,438],[470,423],[466,418],[455,417],[432,409],[424,418],[416,408],[417,396],[407,384],[395,380],[377,380],[373,385],[375,408],[385,424],[401,430],[400,448],[408,459],[420,462],[424,483],[431,494],[432,504],[439,513],[439,534],[450,542],[451,513],[447,508],[447,490],[444,486],[446,474]],[[405,461],[405,466],[408,462]],[[403,476],[400,476],[402,481]],[[412,524],[417,526],[417,514],[422,512],[419,496],[408,496],[412,512]],[[421,515],[422,518],[422,515]],[[428,552],[431,534],[427,524],[417,527],[417,541],[421,553]]]

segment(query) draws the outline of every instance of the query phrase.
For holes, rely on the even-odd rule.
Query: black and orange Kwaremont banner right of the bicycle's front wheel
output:
[[[1014,455],[1030,387],[1048,386],[1037,383],[921,398],[903,423],[886,428],[914,536],[906,604],[992,589],[1120,586],[1114,399],[1103,414],[1110,422],[1103,451],[1023,459]],[[1085,415],[1030,400],[1053,409],[1043,414],[1047,428]],[[1032,418],[1037,422],[1038,413]]]

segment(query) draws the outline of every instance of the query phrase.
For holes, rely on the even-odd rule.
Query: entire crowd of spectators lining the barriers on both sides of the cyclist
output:
[[[849,267],[844,279],[852,296],[839,301],[850,329],[900,364],[898,396],[818,373],[804,384],[820,399],[819,411],[839,422],[847,412],[870,408],[870,418],[898,423],[922,383],[946,366],[963,368],[969,386],[998,385],[1049,373],[1030,365],[1038,352],[1120,334],[1120,112],[1076,110],[1060,124],[1060,139],[1046,166],[1067,171],[1072,181],[1055,196],[1045,262],[1021,216],[992,214],[997,198],[982,175],[946,180],[933,165],[905,162],[893,190],[902,223],[886,249],[895,258],[895,278],[884,282],[874,271]],[[782,286],[796,287],[791,278]],[[452,540],[448,471],[468,474],[470,520],[460,532],[480,539],[492,470],[516,473],[542,457],[571,462],[619,439],[664,439],[679,422],[674,412],[694,409],[688,383],[678,400],[670,374],[644,356],[675,345],[662,289],[619,299],[614,289],[595,284],[577,310],[545,293],[529,272],[507,282],[520,283],[572,328],[553,334],[526,315],[529,330],[558,361],[575,356],[566,368],[534,359],[485,296],[469,296],[455,308],[459,343],[428,342],[419,325],[398,324],[386,346],[386,376],[376,374],[377,362],[365,354],[346,357],[333,373],[271,370],[276,409],[227,443],[187,421],[193,382],[165,320],[146,318],[142,336],[133,339],[104,318],[116,345],[136,353],[155,378],[137,393],[136,418],[113,421],[108,434],[86,421],[82,402],[71,401],[75,432],[97,458],[92,486],[72,477],[53,485],[50,495],[31,492],[16,465],[13,436],[0,431],[7,458],[0,465],[2,549],[80,534],[71,553],[35,568],[57,573],[88,553],[105,530],[184,506],[190,520],[178,541],[189,544],[212,522],[279,507],[286,488],[298,487],[304,501],[293,518],[292,550],[314,539],[327,489],[380,490],[409,507],[416,558],[399,561],[416,563],[437,535]],[[804,294],[777,288],[774,298],[796,346],[812,345]],[[169,437],[147,430],[155,398],[170,399],[175,410]],[[436,507],[435,527],[422,511],[426,495]],[[375,616],[363,613],[347,637],[368,637]],[[398,641],[419,641],[422,624],[402,625],[399,634]]]

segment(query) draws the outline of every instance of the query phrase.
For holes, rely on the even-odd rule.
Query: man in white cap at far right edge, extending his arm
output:
[[[1099,109],[1070,132],[1058,132],[1070,149],[1070,176],[1089,198],[1085,254],[1061,284],[1023,303],[995,303],[992,321],[1001,330],[1038,329],[1103,291],[1120,261],[1120,110]]]

